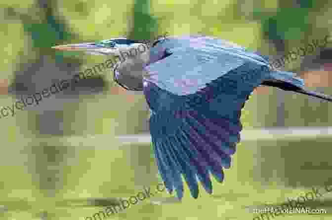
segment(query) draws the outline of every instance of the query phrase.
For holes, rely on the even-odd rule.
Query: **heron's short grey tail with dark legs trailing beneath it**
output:
[[[304,87],[304,80],[294,77],[293,73],[286,71],[273,71],[270,74],[271,78],[264,80],[261,85],[273,86],[285,91],[293,91],[301,94],[306,94],[308,96],[313,96],[332,102],[332,96],[306,90]]]

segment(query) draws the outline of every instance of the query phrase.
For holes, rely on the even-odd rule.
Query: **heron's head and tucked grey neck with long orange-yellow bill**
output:
[[[164,39],[165,40],[165,39]],[[53,46],[62,51],[82,51],[90,55],[118,56],[114,66],[114,80],[126,90],[142,91],[144,67],[162,59],[165,49],[156,48],[161,39],[132,40],[124,37],[90,43],[76,43]]]

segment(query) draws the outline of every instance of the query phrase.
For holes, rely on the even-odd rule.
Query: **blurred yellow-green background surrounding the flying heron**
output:
[[[203,34],[273,60],[332,31],[328,0],[11,0],[0,2],[0,10],[0,72],[8,80],[8,93],[0,95],[3,107],[107,59],[50,49],[58,44]],[[306,83],[317,81],[311,89],[332,94],[325,68],[331,58],[329,48],[317,48],[284,69],[305,76]],[[331,104],[274,88],[254,94],[243,110],[245,129],[331,125]],[[144,185],[157,185],[151,145],[114,139],[148,132],[148,115],[143,96],[126,93],[114,85],[111,73],[103,73],[1,118],[0,219],[83,220]],[[195,200],[186,187],[178,203],[164,192],[108,219],[252,219],[254,206],[280,204],[312,186],[332,184],[331,140],[245,141],[225,171],[225,182],[213,182],[212,195],[200,187]],[[328,214],[283,218],[331,219],[329,195],[323,199],[313,207]]]

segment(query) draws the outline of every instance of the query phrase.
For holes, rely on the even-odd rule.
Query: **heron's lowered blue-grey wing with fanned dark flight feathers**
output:
[[[241,50],[236,49],[239,53]],[[176,60],[176,53],[173,55]],[[208,193],[212,193],[209,174],[218,182],[224,180],[223,169],[231,166],[231,155],[240,141],[241,109],[253,89],[266,78],[269,69],[268,64],[262,65],[263,58],[253,62],[251,59],[256,55],[250,54],[251,58],[228,55],[227,69],[222,69],[225,64],[216,57],[216,63],[210,63],[214,68],[207,71],[204,69],[200,73],[197,68],[177,71],[176,68],[172,70],[173,55],[165,59],[169,65],[162,60],[150,66],[150,71],[155,72],[152,76],[169,73],[181,82],[181,74],[195,75],[191,78],[196,80],[191,83],[195,91],[182,94],[179,89],[173,92],[165,78],[145,79],[144,93],[152,112],[150,132],[158,169],[168,191],[175,189],[178,198],[182,198],[183,176],[191,195],[197,198],[198,181]],[[183,55],[182,60],[187,59]],[[167,85],[163,86],[164,83]],[[181,85],[189,89],[185,83]]]

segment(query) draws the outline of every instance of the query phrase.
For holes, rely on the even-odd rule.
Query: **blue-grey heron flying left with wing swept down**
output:
[[[278,71],[267,56],[226,40],[206,36],[156,39],[151,43],[124,37],[97,43],[55,46],[59,50],[120,56],[145,52],[119,61],[115,81],[126,90],[143,91],[150,107],[150,133],[159,173],[169,193],[183,197],[182,177],[192,197],[198,182],[212,193],[210,174],[221,183],[223,169],[240,142],[241,109],[261,85],[332,101],[308,91],[303,79]]]

